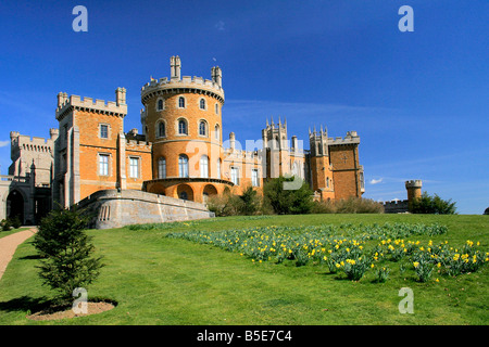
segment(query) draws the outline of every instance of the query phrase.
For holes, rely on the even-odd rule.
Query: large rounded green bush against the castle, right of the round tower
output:
[[[299,189],[284,189],[284,182],[293,180],[293,177],[280,176],[266,182],[263,188],[265,198],[278,215],[309,214],[313,207],[312,191],[305,181]]]

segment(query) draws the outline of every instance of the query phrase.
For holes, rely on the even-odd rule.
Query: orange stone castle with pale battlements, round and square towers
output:
[[[329,138],[314,127],[306,151],[296,136],[289,140],[285,119],[272,119],[253,149],[243,150],[234,132],[223,141],[222,69],[212,67],[211,79],[204,79],[181,76],[179,56],[170,63],[170,78],[151,78],[141,88],[141,133],[124,132],[124,88],[108,102],[60,92],[59,127],[48,140],[12,131],[13,163],[0,179],[0,219],[17,215],[34,223],[55,206],[86,203],[109,190],[129,192],[125,196],[143,192],[138,196],[148,202],[153,197],[147,194],[155,194],[174,205],[180,204],[174,200],[205,204],[209,196],[240,194],[248,187],[261,191],[267,179],[287,175],[309,182],[317,200],[362,196],[356,131]]]

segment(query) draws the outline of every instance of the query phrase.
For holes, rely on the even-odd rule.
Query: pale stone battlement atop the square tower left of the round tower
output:
[[[79,95],[67,97],[66,93],[58,94],[57,119],[61,120],[70,110],[103,113],[108,115],[125,117],[127,115],[127,104],[125,103],[124,88],[116,89],[116,101],[104,101]]]

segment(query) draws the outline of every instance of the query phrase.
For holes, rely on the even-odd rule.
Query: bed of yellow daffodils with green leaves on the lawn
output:
[[[375,271],[378,282],[385,282],[390,270],[386,261],[403,260],[425,282],[434,270],[440,274],[457,275],[473,272],[489,261],[489,254],[477,249],[478,243],[467,241],[462,247],[447,242],[434,245],[408,240],[413,235],[440,235],[443,226],[385,223],[384,226],[322,224],[309,227],[261,227],[225,231],[188,231],[167,234],[201,244],[236,252],[254,264],[263,261],[294,261],[296,266],[326,266],[331,273],[342,271],[358,281],[368,270]],[[372,245],[372,240],[378,240]]]

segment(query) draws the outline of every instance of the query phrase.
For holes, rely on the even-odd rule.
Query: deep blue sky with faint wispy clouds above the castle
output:
[[[75,33],[75,5],[88,31]],[[401,33],[401,5],[414,31]],[[0,3],[0,172],[10,131],[48,137],[57,93],[114,100],[127,89],[125,130],[140,129],[140,88],[170,75],[223,69],[223,131],[259,140],[287,117],[309,149],[309,128],[355,130],[364,197],[406,197],[404,181],[489,207],[487,0],[11,1]]]

